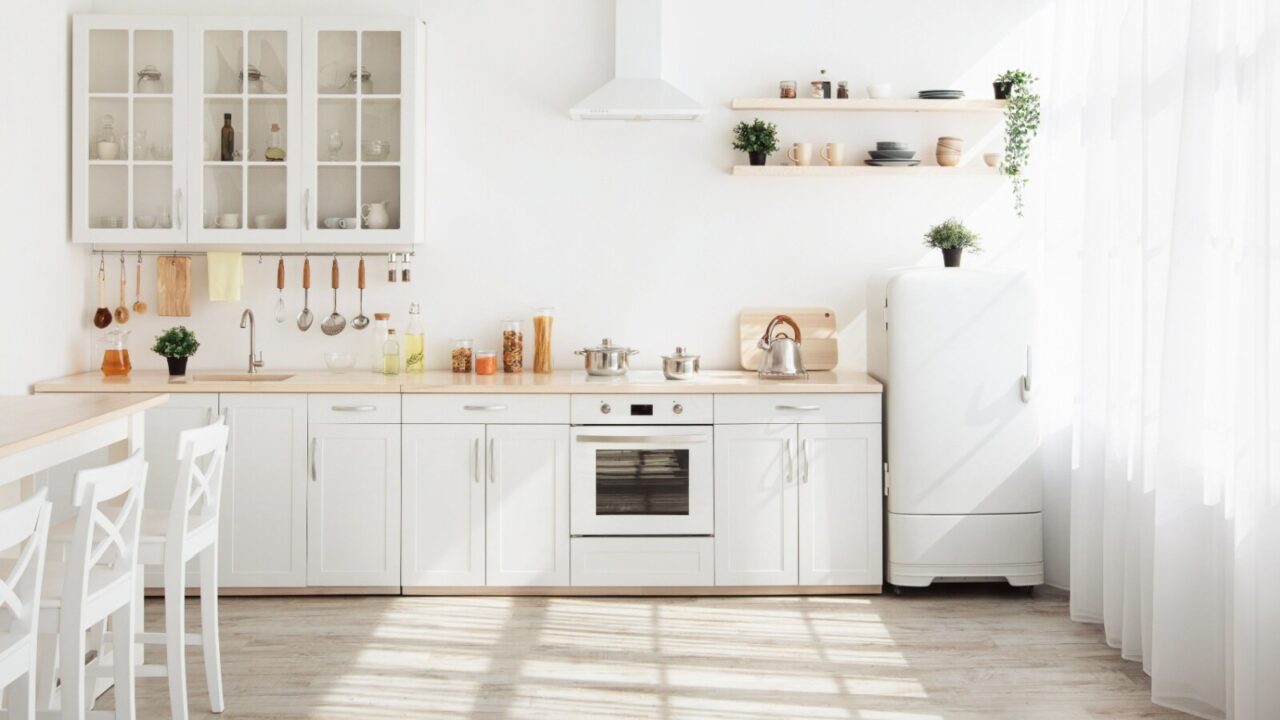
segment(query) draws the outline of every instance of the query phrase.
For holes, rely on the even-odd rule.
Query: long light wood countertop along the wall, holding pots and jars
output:
[[[292,375],[275,382],[202,380],[201,375],[233,374],[234,370],[197,372],[170,378],[163,370],[136,370],[124,378],[105,378],[101,373],[82,373],[42,383],[36,392],[531,392],[531,393],[806,393],[806,392],[883,392],[867,373],[832,370],[810,373],[808,379],[765,380],[742,370],[707,370],[692,380],[668,380],[660,370],[632,370],[621,378],[589,377],[582,370],[557,370],[549,374],[518,373],[497,375],[454,374],[448,370],[379,375],[369,370],[330,373],[326,370],[262,370],[264,375]],[[243,372],[238,373],[243,374]],[[248,378],[248,375],[244,375]]]

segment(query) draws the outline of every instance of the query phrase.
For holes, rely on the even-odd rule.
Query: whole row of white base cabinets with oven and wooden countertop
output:
[[[157,483],[168,436],[227,415],[229,594],[882,585],[882,388],[864,373],[228,374],[87,373],[36,392],[172,393],[150,411]],[[634,482],[646,473],[667,489]]]

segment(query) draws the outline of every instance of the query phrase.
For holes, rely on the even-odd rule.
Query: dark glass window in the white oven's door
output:
[[[595,514],[689,515],[689,450],[596,450]]]

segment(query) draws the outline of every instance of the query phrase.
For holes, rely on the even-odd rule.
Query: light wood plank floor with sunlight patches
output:
[[[148,626],[160,611],[148,602]],[[224,598],[221,612],[227,712],[209,714],[191,648],[192,717],[1185,717],[1151,705],[1139,665],[1055,591]],[[169,717],[164,679],[140,679],[138,700],[140,717]]]

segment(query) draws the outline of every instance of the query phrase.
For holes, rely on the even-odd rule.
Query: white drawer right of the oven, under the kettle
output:
[[[717,395],[716,423],[879,423],[873,392]]]

